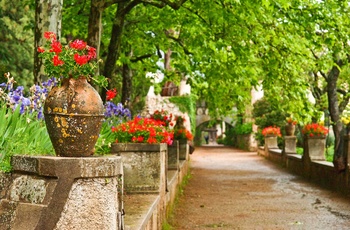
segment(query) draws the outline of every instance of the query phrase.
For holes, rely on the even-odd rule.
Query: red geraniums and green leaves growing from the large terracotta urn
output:
[[[38,47],[38,52],[49,77],[60,79],[84,76],[106,86],[107,81],[103,76],[92,77],[98,67],[95,48],[79,39],[63,46],[53,32],[45,32],[44,38],[46,43]]]

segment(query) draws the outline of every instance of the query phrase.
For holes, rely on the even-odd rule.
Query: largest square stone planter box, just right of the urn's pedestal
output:
[[[126,193],[164,193],[167,144],[114,143],[111,153],[121,156]]]

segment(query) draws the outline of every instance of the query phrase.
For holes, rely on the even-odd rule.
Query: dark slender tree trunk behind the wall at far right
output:
[[[342,62],[338,61],[338,66],[342,66]],[[339,101],[337,97],[337,81],[340,74],[339,67],[334,66],[327,78],[327,96],[330,117],[333,123],[334,132],[334,158],[333,164],[338,172],[345,170],[345,157],[343,153],[343,125],[340,120]]]

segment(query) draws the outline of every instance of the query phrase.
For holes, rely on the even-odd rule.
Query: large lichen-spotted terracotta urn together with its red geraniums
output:
[[[103,85],[95,77],[96,49],[82,40],[63,46],[53,32],[45,32],[44,46],[38,47],[48,77],[59,84],[52,88],[44,104],[46,127],[58,156],[90,156],[104,118],[104,106],[97,91],[87,82]]]

